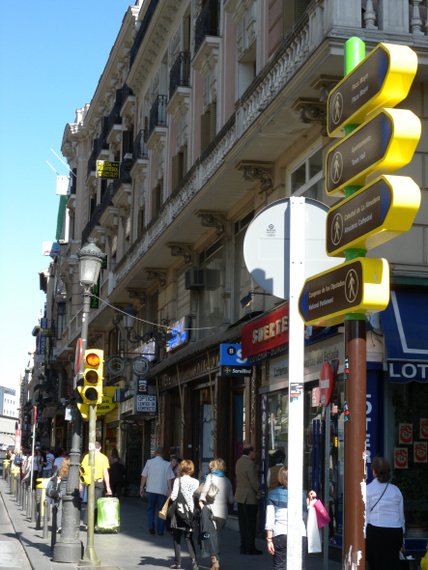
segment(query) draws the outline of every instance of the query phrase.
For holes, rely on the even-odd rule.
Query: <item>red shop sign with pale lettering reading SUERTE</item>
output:
[[[242,356],[254,356],[288,343],[288,325],[288,305],[244,325],[241,329]]]

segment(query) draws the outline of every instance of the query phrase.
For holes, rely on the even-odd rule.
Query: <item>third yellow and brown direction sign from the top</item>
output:
[[[408,176],[380,176],[333,206],[327,214],[328,255],[347,248],[373,249],[407,232],[421,203],[419,186]]]

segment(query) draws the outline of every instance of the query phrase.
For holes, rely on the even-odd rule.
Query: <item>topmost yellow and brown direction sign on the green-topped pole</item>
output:
[[[328,135],[340,135],[344,126],[361,124],[369,113],[403,101],[417,67],[418,57],[408,46],[380,43],[329,94]]]

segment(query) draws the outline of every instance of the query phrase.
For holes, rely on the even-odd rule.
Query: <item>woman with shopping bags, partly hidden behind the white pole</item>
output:
[[[278,487],[273,489],[267,497],[266,503],[266,540],[269,554],[273,555],[274,570],[287,568],[287,525],[288,525],[288,469],[281,467],[278,473]],[[302,519],[300,530],[302,533],[302,570],[306,570],[306,557],[308,553],[308,539],[306,536],[307,510],[310,501],[315,499],[315,491],[309,491],[306,496],[302,494]]]

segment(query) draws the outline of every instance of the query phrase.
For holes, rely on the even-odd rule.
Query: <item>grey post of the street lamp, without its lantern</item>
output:
[[[83,292],[83,313],[82,313],[82,354],[85,353],[88,341],[88,317],[90,309],[91,292],[89,287],[85,287]],[[83,377],[83,359],[80,365],[78,380]],[[62,527],[61,538],[54,546],[54,562],[79,562],[82,553],[82,543],[80,540],[80,508],[81,500],[79,493],[79,468],[80,468],[80,431],[81,416],[74,405],[73,408],[73,435],[70,450],[70,467],[68,471],[66,494],[62,498]]]

